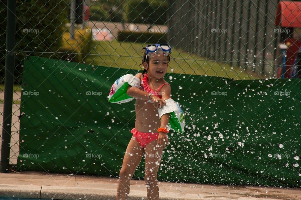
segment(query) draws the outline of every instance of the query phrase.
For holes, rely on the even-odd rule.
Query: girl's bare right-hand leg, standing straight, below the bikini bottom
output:
[[[147,200],[159,199],[157,172],[162,159],[163,144],[158,145],[158,140],[151,141],[145,147],[145,185]]]

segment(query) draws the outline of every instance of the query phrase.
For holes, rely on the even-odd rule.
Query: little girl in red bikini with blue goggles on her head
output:
[[[162,115],[160,121],[157,109],[162,108],[166,104],[165,100],[171,98],[170,85],[163,79],[170,61],[171,47],[169,44],[152,44],[143,49],[145,52],[141,64],[144,71],[135,75],[141,80],[140,88],[129,86],[127,89],[127,94],[136,99],[136,121],[119,173],[116,200],[128,198],[130,180],[144,153],[147,200],[159,199],[157,172],[163,148],[168,145],[169,131],[166,125],[169,113]]]

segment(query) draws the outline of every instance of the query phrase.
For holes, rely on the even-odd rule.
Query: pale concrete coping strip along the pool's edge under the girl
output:
[[[53,198],[64,200],[113,200],[116,199],[116,189],[0,184],[0,197],[34,199]],[[130,190],[129,200],[141,199],[146,199],[146,194],[144,191],[132,189]],[[172,192],[160,192],[160,199],[193,200],[201,198],[198,194],[177,195]]]

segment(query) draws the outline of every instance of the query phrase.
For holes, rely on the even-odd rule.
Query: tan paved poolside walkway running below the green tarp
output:
[[[116,199],[118,178],[42,172],[0,173],[1,197],[66,200]],[[131,180],[129,200],[146,199],[144,181]],[[297,200],[301,189],[165,183],[158,181],[159,199]],[[9,198],[8,198],[9,199]]]

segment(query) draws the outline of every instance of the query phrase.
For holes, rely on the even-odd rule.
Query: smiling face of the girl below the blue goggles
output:
[[[143,67],[147,69],[148,76],[157,79],[163,78],[168,67],[167,56],[164,56],[163,53],[157,54],[150,58],[149,66],[145,62]]]

